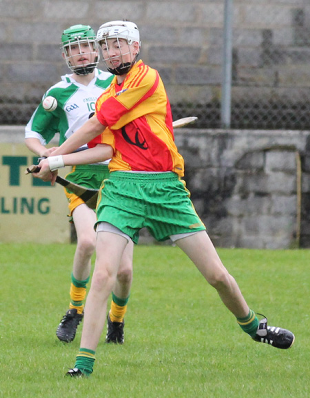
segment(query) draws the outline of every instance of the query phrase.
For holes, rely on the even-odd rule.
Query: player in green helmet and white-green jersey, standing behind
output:
[[[74,25],[63,31],[62,55],[72,73],[61,76],[61,81],[50,87],[42,98],[42,102],[46,96],[56,98],[56,109],[47,112],[41,102],[25,127],[25,145],[37,156],[49,156],[55,149],[48,149],[45,145],[50,143],[56,133],[59,133],[59,145],[74,134],[94,114],[96,99],[110,86],[113,75],[97,68],[99,50],[95,36],[89,25]],[[79,150],[83,149],[87,149],[87,145]],[[66,178],[83,187],[99,189],[101,182],[109,176],[108,163],[109,160],[96,165],[74,166]],[[72,342],[83,320],[83,303],[96,244],[96,214],[74,193],[65,189],[65,195],[68,198],[70,220],[76,229],[77,246],[71,274],[70,305],[56,335],[63,342]],[[106,342],[123,344],[124,341],[123,318],[132,284],[132,252],[131,242],[123,254],[122,266],[112,292]]]

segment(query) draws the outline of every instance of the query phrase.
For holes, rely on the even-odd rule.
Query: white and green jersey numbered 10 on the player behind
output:
[[[42,101],[46,96],[56,98],[56,109],[46,112],[41,102],[25,127],[25,138],[38,138],[46,145],[59,133],[61,145],[94,114],[97,98],[110,86],[113,77],[96,68],[94,78],[86,86],[77,83],[72,74],[61,76],[61,81],[50,87],[42,98]],[[84,147],[87,145],[81,149]]]

